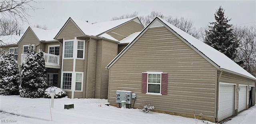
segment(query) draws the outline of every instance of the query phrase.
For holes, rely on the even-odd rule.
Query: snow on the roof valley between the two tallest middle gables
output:
[[[114,21],[108,21],[108,22],[99,22],[94,24],[77,20],[75,18],[71,18],[71,19],[82,30],[82,32],[84,32],[84,34],[89,36],[97,36],[99,34],[102,34],[103,32],[106,32],[112,28],[115,28],[116,26],[124,24],[125,22],[128,22],[134,18],[126,18],[126,19],[120,19],[120,20],[114,20]]]

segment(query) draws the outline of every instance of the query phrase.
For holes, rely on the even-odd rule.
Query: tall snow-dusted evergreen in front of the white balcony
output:
[[[22,63],[20,96],[28,98],[43,97],[47,88],[44,54],[39,50],[35,54],[31,44],[28,46],[27,58]]]

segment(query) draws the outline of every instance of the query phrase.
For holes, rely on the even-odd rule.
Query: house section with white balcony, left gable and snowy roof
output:
[[[18,42],[18,64],[21,68],[26,59],[28,45],[31,44],[35,52],[41,49],[44,52],[46,78],[48,86],[60,87],[60,66],[62,44],[53,39],[60,29],[44,30],[36,27],[28,27]]]

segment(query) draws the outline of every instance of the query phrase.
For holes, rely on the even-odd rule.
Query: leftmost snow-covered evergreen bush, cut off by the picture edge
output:
[[[14,54],[4,52],[0,56],[0,94],[17,95],[19,80],[19,67]]]

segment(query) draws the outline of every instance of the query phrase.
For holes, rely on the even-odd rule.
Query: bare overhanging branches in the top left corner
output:
[[[36,10],[34,6],[30,5],[34,0],[0,0],[0,13],[1,18],[11,18],[12,20],[18,20],[28,22],[27,18],[30,18],[28,10]]]

